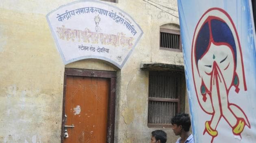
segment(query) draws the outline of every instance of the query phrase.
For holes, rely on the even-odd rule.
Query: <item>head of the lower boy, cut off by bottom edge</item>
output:
[[[154,130],[151,134],[150,143],[166,143],[167,135],[163,130]]]

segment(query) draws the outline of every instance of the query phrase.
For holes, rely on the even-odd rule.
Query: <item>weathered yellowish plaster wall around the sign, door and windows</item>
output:
[[[59,143],[64,68],[117,71],[116,143],[145,143],[156,128],[147,127],[148,71],[141,62],[183,65],[182,53],[159,50],[159,27],[179,24],[176,0],[118,0],[144,34],[124,67],[87,59],[64,65],[46,14],[72,0],[3,0],[0,2],[0,142]],[[168,12],[168,13],[167,13]],[[188,106],[187,106],[188,107]],[[187,108],[186,108],[187,109]],[[170,128],[163,129],[174,142]]]

